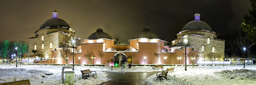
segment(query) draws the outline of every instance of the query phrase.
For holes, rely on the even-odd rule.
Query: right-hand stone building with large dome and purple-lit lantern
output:
[[[200,21],[200,14],[195,14],[194,21],[187,23],[177,34],[177,39],[172,41],[172,45],[185,46],[184,39],[188,40],[189,47],[193,47],[198,51],[198,55],[202,58],[206,53],[215,52],[224,56],[225,40],[217,38],[217,34],[205,22]]]

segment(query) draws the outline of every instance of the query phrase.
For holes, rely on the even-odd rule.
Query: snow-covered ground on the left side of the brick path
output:
[[[26,80],[29,79],[31,85],[42,84],[42,82],[50,83],[54,81],[61,80],[61,68],[62,66],[38,66],[38,65],[21,65],[18,68],[14,64],[11,66],[6,64],[0,64],[0,83]],[[75,75],[81,75],[81,72],[77,68],[75,70]],[[87,69],[87,68],[84,68]],[[83,70],[84,70],[83,69]],[[94,70],[100,70],[100,68],[90,68]],[[71,71],[72,69],[65,69],[65,71]],[[105,70],[105,69],[101,69]],[[65,75],[64,75],[65,76]],[[74,85],[98,85],[110,80],[107,78],[107,74],[102,71],[97,71],[97,75],[90,77],[88,79],[77,80]]]

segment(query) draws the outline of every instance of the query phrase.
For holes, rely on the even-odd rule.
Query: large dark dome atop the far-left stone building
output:
[[[65,22],[64,20],[60,19],[60,18],[50,18],[48,20],[46,20],[39,29],[43,29],[46,27],[66,27],[66,28],[70,28],[69,24],[67,24],[67,22]]]

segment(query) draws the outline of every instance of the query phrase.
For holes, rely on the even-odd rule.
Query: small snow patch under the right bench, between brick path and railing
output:
[[[175,85],[172,80],[161,80],[157,78],[157,75],[152,75],[146,78],[148,85]]]

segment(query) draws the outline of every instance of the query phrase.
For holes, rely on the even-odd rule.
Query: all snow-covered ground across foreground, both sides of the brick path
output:
[[[184,71],[185,66],[175,67],[173,73],[169,75],[175,76],[181,80],[185,80],[195,85],[256,85],[256,66],[246,66],[243,69],[242,65],[228,65],[228,66],[187,66],[187,71]],[[57,81],[61,79],[62,66],[52,65],[18,65],[15,64],[0,64],[0,83],[29,79],[32,85]],[[171,68],[171,66],[164,66],[164,69]],[[120,72],[120,67],[99,67],[99,66],[75,66],[75,74],[81,75],[80,70],[90,69],[97,71],[97,75],[88,79],[77,80],[75,85],[98,85],[108,80],[107,74],[102,71]],[[72,69],[65,69],[69,71]],[[136,66],[132,68],[125,68],[124,72],[160,72],[162,69],[153,70],[149,66]],[[156,75],[147,78],[149,85],[173,85],[171,80],[160,81]]]

